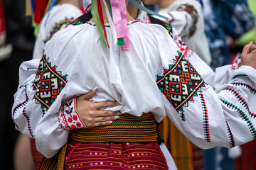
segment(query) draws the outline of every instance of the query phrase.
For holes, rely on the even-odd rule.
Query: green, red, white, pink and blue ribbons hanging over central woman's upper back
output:
[[[53,0],[55,1],[55,0]],[[90,0],[83,0],[84,6],[87,8],[87,11],[90,11]],[[96,2],[97,1],[97,2]],[[107,4],[105,0],[102,0],[107,13],[107,18],[110,23],[110,29],[112,31],[112,36],[114,38],[114,44],[121,45],[122,50],[129,50],[129,32],[127,26],[127,9],[125,0],[107,0],[109,4],[110,11],[107,8]],[[139,4],[136,0],[129,0],[131,4],[136,6],[142,11],[149,13],[154,16],[159,16],[160,18],[164,18],[165,20],[169,20],[169,18],[165,16],[161,16],[159,13],[149,10],[145,8],[141,4]],[[89,6],[89,8],[88,8]],[[95,24],[97,26],[97,30],[100,33],[100,39],[102,40],[105,47],[110,48],[107,42],[107,33],[105,30],[105,23],[102,15],[102,8],[100,5],[100,0],[92,0],[92,14],[95,18]]]

